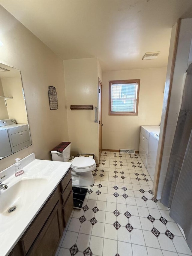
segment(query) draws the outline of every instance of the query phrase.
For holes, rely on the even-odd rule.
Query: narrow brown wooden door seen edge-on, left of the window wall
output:
[[[99,160],[102,152],[102,83],[99,78]]]

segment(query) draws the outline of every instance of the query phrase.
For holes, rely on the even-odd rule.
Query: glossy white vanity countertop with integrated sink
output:
[[[71,164],[35,159],[26,166],[22,166],[25,173],[18,177],[15,177],[14,168],[11,166],[12,173],[7,175],[7,179],[1,180],[3,184],[8,186],[6,190],[0,191],[0,200],[2,199],[3,205],[0,206],[2,207],[2,209],[0,208],[1,256],[7,256],[14,248]],[[8,173],[7,169],[5,172],[1,172],[1,176]],[[15,184],[17,184],[16,190]],[[22,185],[20,186],[20,184]],[[19,194],[19,189],[24,189],[25,193]],[[14,191],[14,194],[11,191]],[[18,192],[18,195],[15,191]],[[8,213],[8,209],[13,205],[17,206],[17,209]],[[5,209],[6,207],[8,208]]]

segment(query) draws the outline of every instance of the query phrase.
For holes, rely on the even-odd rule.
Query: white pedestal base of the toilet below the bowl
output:
[[[91,186],[95,183],[95,180],[93,179],[92,172],[89,171],[87,173],[81,173],[80,175],[76,174],[72,176],[72,184],[76,187],[87,187]]]

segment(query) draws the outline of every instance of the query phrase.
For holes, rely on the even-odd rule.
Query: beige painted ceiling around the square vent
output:
[[[0,0],[62,59],[98,57],[103,71],[167,66],[171,28],[191,0]],[[160,51],[155,60],[146,52]]]

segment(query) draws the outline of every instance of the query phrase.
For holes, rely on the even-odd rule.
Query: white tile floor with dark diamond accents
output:
[[[102,152],[93,176],[56,256],[192,255],[169,209],[154,198],[139,154]]]

